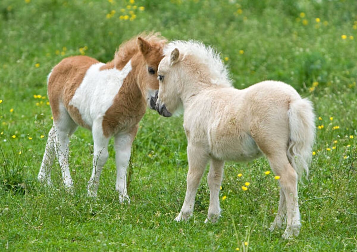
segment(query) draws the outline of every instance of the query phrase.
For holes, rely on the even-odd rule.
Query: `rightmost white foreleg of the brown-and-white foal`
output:
[[[135,130],[136,132],[136,130]],[[135,136],[135,135],[134,135]],[[115,190],[119,193],[119,201],[130,203],[126,188],[126,170],[130,160],[131,145],[134,140],[131,134],[118,134],[115,136],[115,163],[116,183]]]

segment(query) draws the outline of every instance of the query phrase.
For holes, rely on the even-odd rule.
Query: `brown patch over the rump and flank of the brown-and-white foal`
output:
[[[48,97],[52,109],[53,120],[60,119],[60,103],[63,103],[72,119],[80,126],[89,128],[78,111],[69,105],[75,91],[91,65],[98,63],[94,58],[87,56],[74,56],[63,59],[51,72],[48,80]]]

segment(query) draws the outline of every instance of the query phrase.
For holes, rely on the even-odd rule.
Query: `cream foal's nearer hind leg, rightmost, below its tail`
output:
[[[293,236],[297,236],[299,234],[301,227],[297,196],[297,174],[289,163],[286,155],[268,157],[268,159],[274,173],[280,176],[280,187],[285,195],[287,222],[286,229],[282,237],[285,239],[291,239]],[[283,213],[283,206],[280,210],[281,213]],[[278,216],[281,213],[278,211]]]

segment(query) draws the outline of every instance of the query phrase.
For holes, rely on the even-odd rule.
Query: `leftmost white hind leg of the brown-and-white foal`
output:
[[[41,183],[52,185],[51,168],[54,158],[55,158],[55,129],[54,127],[52,127],[50,132],[48,133],[45,154],[44,157],[42,158],[39,175],[37,175],[37,179]]]

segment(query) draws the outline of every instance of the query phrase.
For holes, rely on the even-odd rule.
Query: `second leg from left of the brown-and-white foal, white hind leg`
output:
[[[55,151],[58,162],[60,163],[63,183],[66,188],[73,187],[73,181],[69,170],[69,137],[76,130],[77,125],[71,119],[67,111],[62,110],[61,116],[58,121],[55,122]]]

